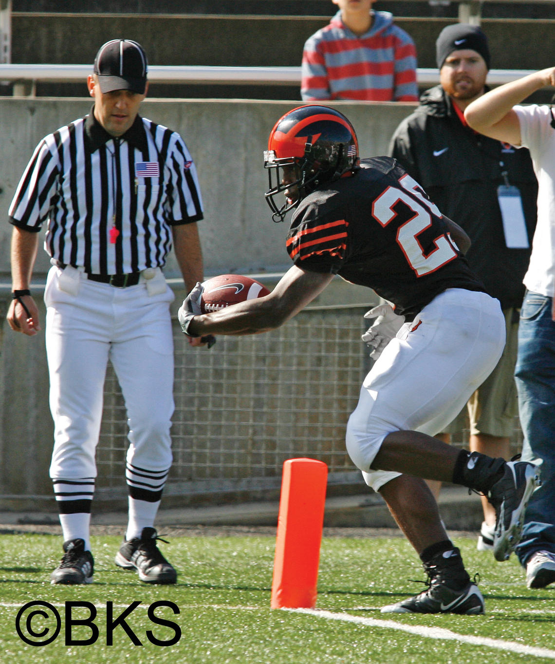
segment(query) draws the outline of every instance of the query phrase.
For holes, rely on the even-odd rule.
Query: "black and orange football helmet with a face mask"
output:
[[[293,181],[284,182],[284,167],[293,169]],[[283,221],[285,214],[309,193],[357,167],[357,135],[342,113],[328,106],[293,108],[277,120],[268,150],[264,151],[270,186],[264,196],[273,212],[272,219]],[[274,197],[286,190],[293,195],[279,207]]]

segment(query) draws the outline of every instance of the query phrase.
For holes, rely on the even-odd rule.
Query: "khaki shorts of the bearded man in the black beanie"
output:
[[[471,436],[488,434],[510,438],[518,414],[515,364],[518,345],[519,309],[503,309],[507,342],[497,367],[474,392],[457,418],[442,432],[456,434],[469,428]]]

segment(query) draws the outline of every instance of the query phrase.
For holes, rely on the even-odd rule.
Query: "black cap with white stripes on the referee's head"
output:
[[[131,39],[112,39],[98,49],[94,73],[103,93],[131,90],[144,94],[147,84],[147,56],[141,44]]]

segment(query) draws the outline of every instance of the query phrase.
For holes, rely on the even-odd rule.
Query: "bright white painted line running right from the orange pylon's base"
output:
[[[287,609],[287,611],[308,614],[316,616],[317,618],[325,618],[327,620],[341,620],[343,622],[356,623],[357,625],[368,625],[368,627],[383,627],[384,629],[398,629],[399,631],[406,631],[410,634],[416,634],[421,637],[428,637],[430,639],[445,639],[449,641],[461,641],[461,643],[469,643],[469,645],[482,645],[489,648],[497,648],[499,650],[506,650],[511,653],[522,653],[522,655],[532,655],[534,657],[546,657],[547,659],[555,659],[555,650],[548,650],[547,648],[536,648],[532,645],[524,645],[516,643],[515,641],[503,641],[502,639],[489,639],[485,636],[469,636],[466,634],[457,634],[450,629],[443,629],[443,627],[423,627],[421,625],[405,625],[398,623],[394,620],[377,620],[376,618],[364,618],[364,616],[351,616],[350,614],[335,614],[331,611],[323,611],[319,609]]]

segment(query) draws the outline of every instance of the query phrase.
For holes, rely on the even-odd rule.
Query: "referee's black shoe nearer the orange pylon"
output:
[[[143,528],[141,537],[134,537],[121,544],[116,554],[116,565],[125,570],[137,570],[139,579],[145,583],[175,583],[177,572],[161,554],[157,540],[166,542],[156,535],[154,528]]]

